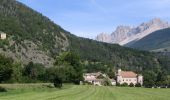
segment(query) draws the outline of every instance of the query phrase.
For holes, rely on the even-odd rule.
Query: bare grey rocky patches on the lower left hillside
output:
[[[59,48],[60,51],[66,51],[69,46],[69,42],[65,34],[62,32],[61,34],[65,39],[61,39],[56,36],[55,47]],[[43,64],[46,67],[53,66],[54,64],[55,60],[51,57],[50,51],[41,50],[40,47],[43,45],[41,42],[34,43],[30,40],[24,40],[21,41],[20,44],[17,44],[11,37],[8,37],[6,40],[0,40],[0,42],[1,41],[7,41],[9,44],[3,44],[0,48],[0,53],[15,59],[15,61],[19,61],[24,64],[32,61],[34,63]]]

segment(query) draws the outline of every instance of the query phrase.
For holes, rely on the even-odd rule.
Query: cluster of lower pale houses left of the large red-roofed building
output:
[[[84,81],[89,82],[93,85],[102,86],[104,83],[104,78],[107,78],[108,76],[106,74],[102,74],[101,72],[97,73],[85,73],[83,75]],[[110,82],[112,85],[116,85],[116,81],[114,79],[110,79]]]

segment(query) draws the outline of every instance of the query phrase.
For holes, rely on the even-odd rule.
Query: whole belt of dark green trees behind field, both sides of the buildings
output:
[[[73,52],[61,53],[56,57],[52,67],[33,62],[23,65],[0,55],[0,83],[53,82],[54,86],[62,87],[62,83],[79,84],[84,80],[83,73],[85,72],[98,71],[106,73],[112,79],[116,77],[116,67],[111,64],[82,61]],[[160,69],[158,72],[147,70],[142,75],[145,87],[170,86],[170,76],[165,70]]]

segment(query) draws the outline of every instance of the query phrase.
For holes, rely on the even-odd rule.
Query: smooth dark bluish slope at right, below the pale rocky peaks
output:
[[[170,48],[170,28],[151,33],[143,39],[126,46],[141,50],[163,50]]]

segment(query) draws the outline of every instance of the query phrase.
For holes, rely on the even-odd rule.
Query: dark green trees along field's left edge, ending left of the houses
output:
[[[22,65],[0,55],[0,83],[53,82],[55,87],[62,87],[63,82],[79,84],[80,81],[83,81],[82,64],[74,53],[62,53],[52,67],[33,62]]]

